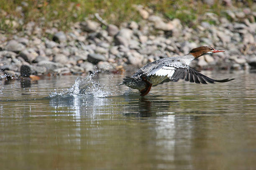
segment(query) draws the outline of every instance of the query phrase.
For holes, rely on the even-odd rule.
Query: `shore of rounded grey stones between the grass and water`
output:
[[[139,5],[137,10],[143,20],[120,27],[95,14],[74,23],[67,32],[54,27],[43,30],[30,22],[11,39],[0,33],[0,76],[20,76],[21,65],[28,65],[34,75],[136,71],[148,62],[184,55],[202,45],[225,52],[202,56],[193,67],[256,68],[256,12],[248,8],[226,11],[227,17],[205,13],[202,22],[192,28]]]

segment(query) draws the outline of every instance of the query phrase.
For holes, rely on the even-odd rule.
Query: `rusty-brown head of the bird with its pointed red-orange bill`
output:
[[[202,47],[193,48],[192,50],[189,51],[189,54],[193,55],[195,58],[198,58],[202,55],[207,55],[207,54],[216,53],[216,52],[224,52],[224,50],[216,50],[212,47],[202,46]]]

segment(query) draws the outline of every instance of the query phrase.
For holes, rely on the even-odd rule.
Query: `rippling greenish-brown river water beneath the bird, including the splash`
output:
[[[202,73],[236,80],[144,97],[120,75],[1,81],[1,169],[256,169],[256,74]]]

